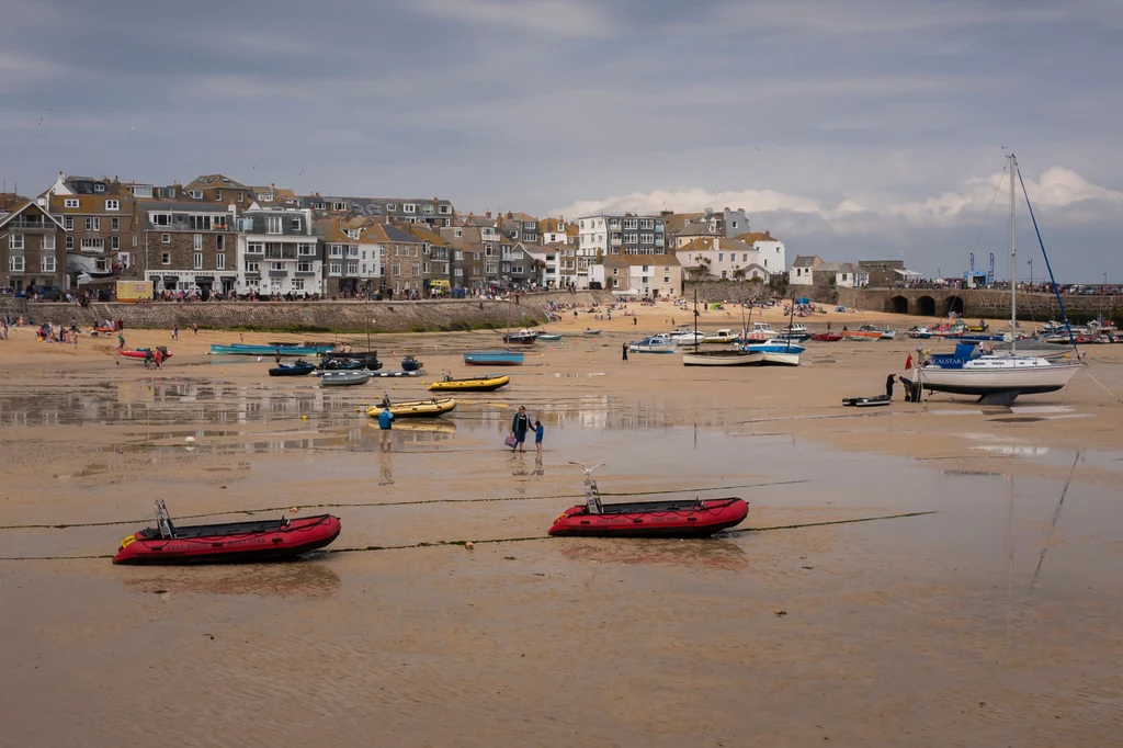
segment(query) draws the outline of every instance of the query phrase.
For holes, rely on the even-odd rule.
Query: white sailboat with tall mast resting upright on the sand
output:
[[[1017,170],[1017,158],[1010,158],[1010,329],[1016,330],[1017,325],[1017,283],[1016,262],[1017,246],[1015,243],[1015,198],[1014,174]],[[1011,341],[1011,349],[998,354],[987,354],[956,359],[953,363],[924,362],[916,367],[915,376],[920,377],[921,386],[933,392],[951,394],[979,395],[980,402],[988,404],[1010,404],[1021,394],[1039,394],[1056,392],[1065,387],[1083,367],[1075,357],[1071,361],[1052,363],[1041,356],[1020,355],[1016,337]]]

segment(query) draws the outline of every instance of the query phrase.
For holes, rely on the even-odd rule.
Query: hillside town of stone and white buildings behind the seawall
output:
[[[807,270],[809,282],[812,273],[824,277],[820,265]],[[666,298],[687,279],[768,283],[788,267],[784,241],[750,230],[743,209],[476,215],[441,198],[299,195],[222,174],[157,185],[60,173],[36,197],[0,193],[0,292],[40,299],[107,299],[117,281],[150,281],[165,299],[422,299],[502,289]],[[859,277],[842,273],[850,273],[843,285]]]

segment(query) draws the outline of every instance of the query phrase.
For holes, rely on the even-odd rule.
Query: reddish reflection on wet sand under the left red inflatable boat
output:
[[[339,576],[323,554],[275,564],[190,566],[159,569],[133,567],[122,580],[133,592],[210,595],[267,595],[331,598],[339,592]]]

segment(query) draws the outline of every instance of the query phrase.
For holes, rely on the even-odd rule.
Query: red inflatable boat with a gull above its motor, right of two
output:
[[[584,467],[584,466],[583,466]],[[601,502],[592,471],[585,469],[585,503],[554,520],[551,536],[606,538],[701,538],[729,529],[749,513],[749,505],[728,499],[672,499],[619,504]]]

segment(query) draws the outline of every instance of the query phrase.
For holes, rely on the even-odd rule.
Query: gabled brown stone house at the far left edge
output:
[[[38,201],[0,193],[0,288],[12,291],[65,291],[62,220]]]

